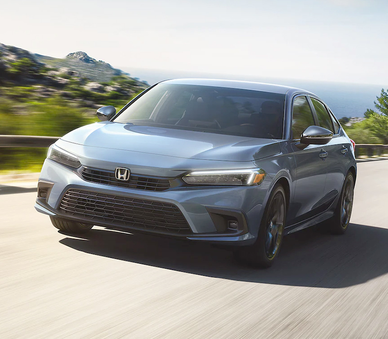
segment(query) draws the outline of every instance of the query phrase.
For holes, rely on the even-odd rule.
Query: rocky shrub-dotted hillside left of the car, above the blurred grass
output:
[[[85,52],[57,59],[0,44],[0,98],[13,102],[59,96],[75,106],[96,108],[121,105],[147,87]]]

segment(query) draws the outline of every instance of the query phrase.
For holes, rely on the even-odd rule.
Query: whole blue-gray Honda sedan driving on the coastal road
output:
[[[61,231],[217,243],[268,267],[285,234],[348,228],[355,144],[311,92],[168,80],[97,115],[51,145],[40,174],[35,208]]]

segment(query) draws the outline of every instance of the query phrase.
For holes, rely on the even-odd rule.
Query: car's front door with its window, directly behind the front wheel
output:
[[[288,226],[303,221],[323,211],[323,190],[326,182],[327,155],[324,145],[299,148],[302,132],[315,125],[311,104],[305,95],[292,100],[291,147],[296,162],[294,196],[290,202]]]

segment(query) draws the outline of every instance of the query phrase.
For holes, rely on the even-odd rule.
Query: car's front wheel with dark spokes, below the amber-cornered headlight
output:
[[[271,267],[282,244],[286,215],[286,193],[283,186],[278,184],[275,185],[265,206],[256,242],[251,246],[237,249],[234,252],[235,259],[249,266]]]

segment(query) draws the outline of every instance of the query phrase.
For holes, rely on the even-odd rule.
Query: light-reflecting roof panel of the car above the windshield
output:
[[[275,84],[266,84],[262,82],[252,82],[252,81],[237,81],[237,80],[221,80],[221,79],[172,79],[165,80],[163,83],[168,84],[179,84],[179,85],[202,85],[202,86],[216,86],[216,87],[228,87],[228,88],[238,88],[242,90],[253,90],[253,91],[262,91],[262,92],[271,92],[278,94],[286,94],[291,90],[291,92],[306,92],[308,91],[298,89],[290,86],[282,86]]]

